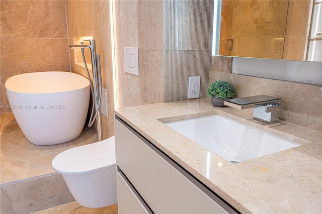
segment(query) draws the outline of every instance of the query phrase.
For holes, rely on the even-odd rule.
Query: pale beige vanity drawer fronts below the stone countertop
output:
[[[115,149],[119,213],[236,213],[117,117]]]

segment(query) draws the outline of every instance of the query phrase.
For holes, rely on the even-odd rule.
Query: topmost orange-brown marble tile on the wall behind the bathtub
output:
[[[1,1],[1,37],[66,38],[63,1]]]

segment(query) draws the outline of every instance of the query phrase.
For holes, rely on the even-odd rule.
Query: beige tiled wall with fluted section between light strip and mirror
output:
[[[119,107],[187,99],[189,76],[201,76],[201,97],[205,94],[212,6],[211,1],[115,1]],[[139,48],[139,76],[124,72],[124,47]]]

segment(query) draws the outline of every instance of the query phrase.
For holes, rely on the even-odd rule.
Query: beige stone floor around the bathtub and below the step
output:
[[[38,146],[26,139],[12,113],[0,114],[0,122],[1,184],[54,173],[51,161],[57,154],[75,146],[97,142],[96,133],[85,126],[81,136],[73,141],[52,146]],[[71,202],[36,213],[117,213],[117,204],[93,209]]]

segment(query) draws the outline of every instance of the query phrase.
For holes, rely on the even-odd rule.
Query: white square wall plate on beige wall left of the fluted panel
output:
[[[124,48],[124,70],[126,73],[139,75],[138,48]]]

